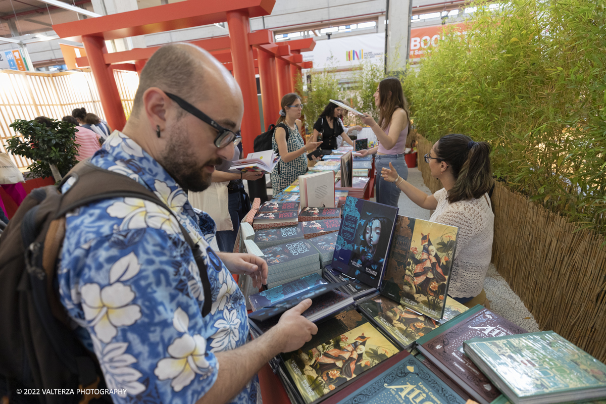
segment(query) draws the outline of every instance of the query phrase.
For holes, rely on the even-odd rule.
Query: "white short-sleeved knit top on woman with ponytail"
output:
[[[494,230],[494,214],[486,197],[448,203],[442,188],[433,196],[438,207],[430,221],[459,228],[448,294],[452,297],[475,297],[484,288]],[[488,202],[487,202],[488,199]]]

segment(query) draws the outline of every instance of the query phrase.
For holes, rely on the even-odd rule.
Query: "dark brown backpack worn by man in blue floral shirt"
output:
[[[61,194],[61,185],[69,178],[75,182]],[[72,332],[53,282],[65,236],[65,214],[113,197],[149,200],[175,216],[135,180],[82,161],[59,187],[33,190],[0,234],[0,399],[7,395],[11,403],[76,403],[82,399],[78,388],[105,388],[96,355]],[[180,223],[179,227],[198,265],[204,296],[211,296],[202,252]],[[211,299],[204,301],[203,316],[210,312],[211,304]],[[19,396],[18,388],[35,389],[38,396]],[[67,389],[67,394],[45,394],[44,389]],[[112,402],[108,394],[87,394],[84,399]]]

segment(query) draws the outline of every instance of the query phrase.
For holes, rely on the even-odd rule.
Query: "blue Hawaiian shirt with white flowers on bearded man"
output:
[[[135,141],[115,131],[91,162],[124,174],[171,208],[205,252],[204,289],[179,225],[147,200],[114,198],[67,214],[58,267],[61,303],[101,364],[115,403],[195,403],[218,374],[215,353],[244,345],[244,296],[208,243],[215,222]],[[72,182],[62,188],[65,192]],[[204,299],[212,308],[202,317]],[[255,403],[255,376],[233,403]]]

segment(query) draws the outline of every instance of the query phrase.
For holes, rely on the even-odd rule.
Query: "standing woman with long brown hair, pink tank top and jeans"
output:
[[[379,82],[375,92],[375,105],[379,108],[379,123],[377,124],[369,114],[364,114],[361,119],[373,130],[379,145],[360,153],[362,156],[376,154],[376,201],[397,208],[400,191],[395,185],[381,178],[381,169],[393,164],[404,179],[408,178],[404,149],[410,129],[410,113],[402,84],[398,79],[388,77]]]

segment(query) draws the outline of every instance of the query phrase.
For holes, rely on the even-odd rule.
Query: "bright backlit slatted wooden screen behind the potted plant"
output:
[[[128,116],[139,76],[134,71],[114,70],[114,77],[122,107]],[[41,115],[61,119],[80,107],[105,119],[99,90],[90,71],[35,73],[0,70],[0,151],[6,151],[4,140],[15,136],[15,131],[8,127],[15,119],[31,120]],[[8,154],[19,168],[31,163],[24,157]]]

